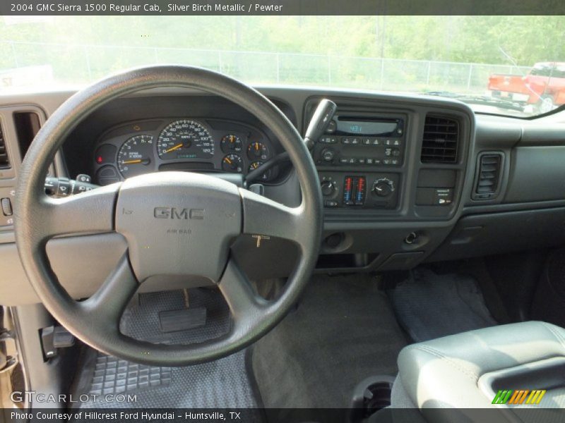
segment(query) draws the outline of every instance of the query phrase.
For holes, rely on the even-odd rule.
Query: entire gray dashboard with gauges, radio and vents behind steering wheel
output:
[[[560,121],[475,114],[453,99],[419,95],[258,90],[302,134],[320,99],[338,106],[311,150],[324,204],[318,272],[412,269],[422,262],[565,243],[560,182],[565,124]],[[15,195],[19,164],[33,134],[71,94],[1,99],[0,143],[9,159],[7,166],[0,162],[2,204]],[[169,170],[246,176],[283,152],[269,128],[234,102],[191,90],[150,90],[105,104],[78,123],[50,173],[87,174],[99,185]],[[290,162],[255,183],[272,200],[288,206],[301,201]],[[54,270],[76,297],[88,295],[83,286],[102,281],[100,274],[111,271],[126,248],[119,236],[92,236],[88,243],[59,238],[47,245]],[[299,253],[288,241],[271,239],[258,247],[245,235],[232,252],[256,280],[288,276]],[[69,262],[81,263],[81,277]],[[16,264],[13,219],[0,214],[0,267],[10,269],[8,279],[21,285],[25,274]],[[161,278],[155,289],[169,283]],[[13,290],[4,281],[0,295],[11,299],[8,303],[35,300],[27,285]]]

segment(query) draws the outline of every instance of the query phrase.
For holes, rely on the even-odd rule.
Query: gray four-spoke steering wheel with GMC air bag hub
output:
[[[65,198],[44,193],[49,164],[78,122],[98,107],[138,90],[187,87],[237,102],[280,140],[302,188],[299,207],[287,207],[220,178],[161,172],[137,176]],[[16,194],[16,243],[23,268],[44,306],[74,336],[124,360],[176,366],[230,355],[275,326],[297,301],[318,255],[322,200],[307,147],[292,123],[266,97],[232,78],[202,68],[153,66],[95,83],[62,104],[25,155]],[[57,280],[45,250],[57,235],[109,233],[128,249],[90,298],[76,301]],[[299,258],[281,295],[256,295],[230,244],[240,234],[291,240]],[[204,276],[214,281],[232,314],[220,338],[189,345],[148,343],[125,336],[119,320],[143,281],[155,275]]]

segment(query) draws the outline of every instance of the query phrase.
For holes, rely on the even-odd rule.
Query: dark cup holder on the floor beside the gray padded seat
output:
[[[355,387],[350,422],[357,423],[391,405],[394,376],[371,376]]]

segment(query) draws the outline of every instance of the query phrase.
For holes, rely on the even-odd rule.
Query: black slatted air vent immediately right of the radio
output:
[[[422,163],[456,163],[459,123],[455,119],[426,116]]]

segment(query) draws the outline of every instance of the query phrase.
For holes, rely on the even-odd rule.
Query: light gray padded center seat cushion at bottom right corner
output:
[[[489,379],[492,372],[516,367],[528,369],[530,366],[524,364],[556,357],[565,357],[565,330],[542,321],[528,321],[409,345],[398,356],[398,370],[410,400],[422,410],[489,408],[495,407],[494,395],[485,389],[482,383],[485,378],[480,381],[482,376]],[[562,386],[565,386],[565,376],[559,377],[564,378]],[[535,377],[525,380],[536,383]],[[492,377],[489,381],[492,382]],[[544,386],[522,388],[545,389]],[[549,390],[547,394],[549,398]],[[559,407],[550,399],[544,400],[543,407]]]

